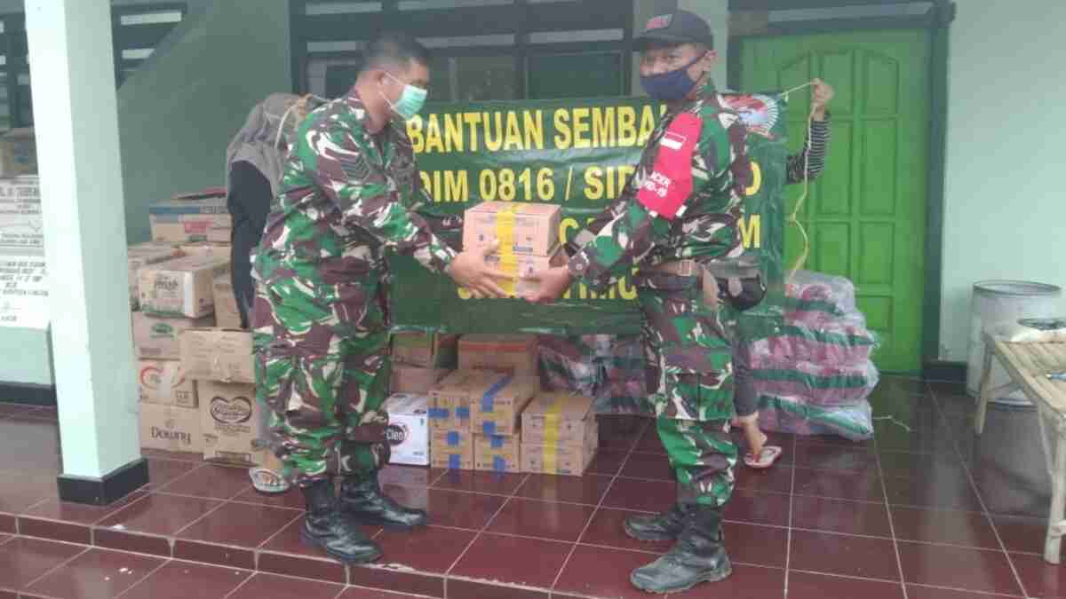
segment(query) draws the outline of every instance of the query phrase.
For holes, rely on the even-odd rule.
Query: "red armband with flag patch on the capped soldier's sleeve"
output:
[[[674,220],[684,212],[684,203],[692,195],[692,155],[699,142],[704,122],[683,112],[674,118],[659,141],[656,164],[636,199],[653,214]]]

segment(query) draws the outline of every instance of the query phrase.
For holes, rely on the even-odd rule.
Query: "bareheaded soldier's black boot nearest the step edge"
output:
[[[333,482],[320,481],[301,490],[307,500],[307,516],[300,529],[305,543],[346,564],[373,562],[382,556],[382,548],[359,531],[355,519],[339,509]]]

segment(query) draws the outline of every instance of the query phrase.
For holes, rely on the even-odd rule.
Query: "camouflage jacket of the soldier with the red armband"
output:
[[[699,116],[704,126],[693,155],[694,187],[685,212],[667,221],[652,216],[637,201],[636,193],[651,174],[660,140],[682,112]],[[708,261],[743,254],[738,221],[743,215],[742,192],[752,183],[746,136],[744,124],[736,112],[723,108],[713,83],[708,83],[695,100],[667,112],[648,140],[626,189],[588,225],[595,238],[570,259],[574,278],[602,290],[633,265],[688,258]]]

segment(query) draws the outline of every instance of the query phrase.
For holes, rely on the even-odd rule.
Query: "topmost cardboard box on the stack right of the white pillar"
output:
[[[233,221],[226,209],[226,194],[185,194],[148,207],[152,241],[229,243]]]

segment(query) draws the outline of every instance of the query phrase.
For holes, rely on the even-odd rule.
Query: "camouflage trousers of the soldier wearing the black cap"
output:
[[[738,449],[732,344],[718,313],[704,304],[698,277],[636,277],[644,315],[648,401],[657,417],[681,503],[721,507],[732,495]]]

